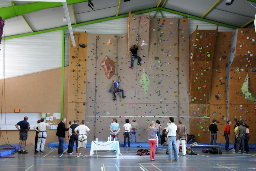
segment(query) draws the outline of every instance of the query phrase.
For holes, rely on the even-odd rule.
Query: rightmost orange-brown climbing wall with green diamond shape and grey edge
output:
[[[249,126],[250,143],[256,142],[255,40],[254,29],[237,29],[233,32],[227,63],[228,119],[232,122],[244,121]]]

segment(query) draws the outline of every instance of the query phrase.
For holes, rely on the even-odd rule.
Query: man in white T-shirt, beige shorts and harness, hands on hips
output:
[[[79,134],[77,134],[77,131],[79,132]],[[90,129],[87,126],[85,126],[85,120],[82,120],[82,125],[79,125],[78,127],[76,127],[74,129],[74,132],[78,136],[77,157],[80,157],[79,152],[80,152],[80,148],[81,147],[84,148],[83,157],[87,157],[85,155],[86,144],[87,144],[87,136],[89,135],[89,133],[91,131],[90,131]]]

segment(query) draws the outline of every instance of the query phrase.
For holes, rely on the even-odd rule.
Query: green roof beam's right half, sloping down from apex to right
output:
[[[189,18],[192,18],[192,19],[198,19],[198,20],[205,21],[205,22],[212,23],[212,24],[217,24],[217,25],[224,26],[224,27],[229,27],[229,28],[233,28],[233,29],[239,28],[239,27],[236,27],[236,26],[231,26],[231,25],[220,23],[220,22],[217,22],[217,21],[212,21],[210,19],[203,19],[201,17],[196,17],[196,16],[193,16],[193,15],[189,15],[189,14],[186,14],[186,13],[169,10],[169,9],[166,9],[166,8],[161,8],[160,10],[161,11],[166,11],[166,12],[171,12],[171,13],[178,14],[178,15],[182,15],[182,16],[189,17]]]

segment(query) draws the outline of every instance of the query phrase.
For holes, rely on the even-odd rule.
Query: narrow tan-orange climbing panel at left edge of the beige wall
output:
[[[87,33],[74,33],[76,47],[69,40],[69,120],[85,119],[86,74],[87,74]]]

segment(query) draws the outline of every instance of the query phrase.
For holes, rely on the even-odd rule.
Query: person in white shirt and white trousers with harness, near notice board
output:
[[[37,140],[37,147],[36,147],[36,154],[39,153],[39,149],[41,151],[41,154],[44,154],[44,144],[47,137],[46,132],[51,128],[51,126],[44,122],[44,118],[40,119],[41,122],[38,123],[36,126],[34,126],[34,129],[39,132],[38,133],[38,140]],[[38,130],[36,129],[38,127]],[[46,127],[48,129],[46,129]]]

